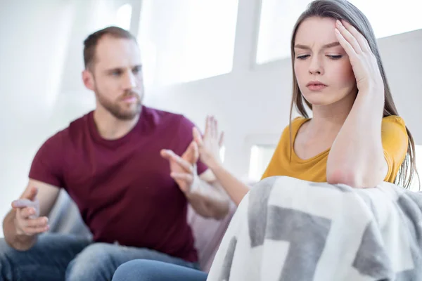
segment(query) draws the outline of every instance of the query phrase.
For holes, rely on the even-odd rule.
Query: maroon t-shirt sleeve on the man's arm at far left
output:
[[[30,169],[30,178],[63,188],[63,140],[60,133],[49,138],[37,151]]]

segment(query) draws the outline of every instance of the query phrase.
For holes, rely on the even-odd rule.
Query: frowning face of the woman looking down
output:
[[[357,93],[349,57],[335,37],[333,18],[304,20],[295,37],[295,76],[312,105],[331,105]]]

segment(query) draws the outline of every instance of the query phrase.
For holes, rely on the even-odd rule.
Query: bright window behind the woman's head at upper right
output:
[[[258,64],[290,58],[290,37],[293,26],[310,2],[262,0],[256,55]],[[350,2],[366,15],[377,38],[422,28],[421,1],[350,0]]]

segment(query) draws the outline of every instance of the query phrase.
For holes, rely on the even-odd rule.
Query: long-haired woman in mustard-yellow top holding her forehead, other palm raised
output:
[[[343,0],[316,0],[300,15],[291,41],[293,105],[302,117],[290,121],[262,178],[290,176],[305,181],[371,188],[382,181],[409,187],[415,172],[414,141],[398,117],[366,17]],[[304,104],[305,102],[305,104]],[[305,105],[312,110],[308,118]],[[226,171],[218,158],[217,122],[207,119],[202,139],[193,131],[200,160],[239,204],[249,188]],[[113,280],[145,261],[132,262]],[[153,262],[154,263],[154,262]],[[205,273],[178,268],[178,279],[162,277],[174,266],[160,265],[147,280],[205,280]],[[170,271],[167,271],[168,270]],[[170,275],[169,275],[170,276]],[[154,279],[156,278],[156,279]]]

